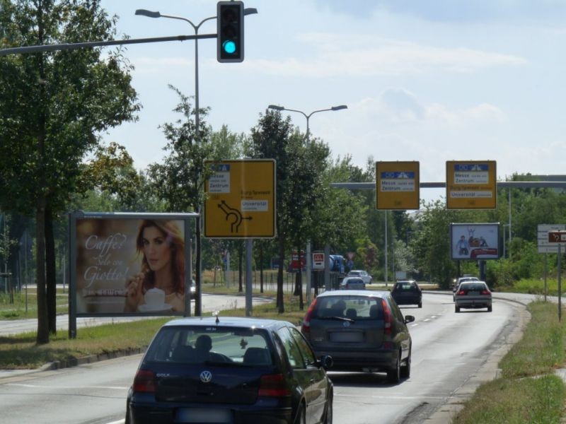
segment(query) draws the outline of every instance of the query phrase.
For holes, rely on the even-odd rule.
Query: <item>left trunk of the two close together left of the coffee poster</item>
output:
[[[47,322],[47,302],[45,295],[45,197],[37,199],[35,211],[37,220],[36,238],[36,271],[37,281],[37,344],[49,343],[49,326]]]

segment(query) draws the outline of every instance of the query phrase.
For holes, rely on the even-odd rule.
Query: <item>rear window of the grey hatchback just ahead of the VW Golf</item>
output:
[[[328,296],[316,300],[312,319],[383,319],[381,298],[367,296]]]

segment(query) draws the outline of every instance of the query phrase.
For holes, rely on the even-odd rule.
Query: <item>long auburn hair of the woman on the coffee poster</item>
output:
[[[182,295],[185,293],[185,239],[177,221],[174,220],[142,220],[137,232],[136,249],[141,254],[141,272],[145,274],[144,288],[149,290],[155,286],[155,272],[151,271],[144,254],[144,229],[157,228],[171,249],[171,271],[173,273],[173,291]]]

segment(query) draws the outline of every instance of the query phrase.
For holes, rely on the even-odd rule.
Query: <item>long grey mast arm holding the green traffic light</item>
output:
[[[173,35],[172,37],[134,38],[130,40],[88,41],[88,42],[74,42],[74,43],[60,44],[60,45],[12,47],[11,49],[1,49],[0,57],[7,56],[8,54],[53,52],[54,50],[74,50],[74,49],[83,49],[88,47],[140,44],[144,42],[200,40],[203,38],[216,38],[216,34]]]

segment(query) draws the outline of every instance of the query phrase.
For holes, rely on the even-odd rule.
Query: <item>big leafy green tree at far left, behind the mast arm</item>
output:
[[[0,0],[0,47],[112,40],[98,0]],[[100,131],[139,110],[121,47],[0,58],[0,206],[35,216],[37,343],[55,326],[52,222],[66,210]]]

